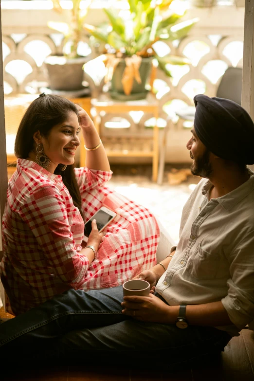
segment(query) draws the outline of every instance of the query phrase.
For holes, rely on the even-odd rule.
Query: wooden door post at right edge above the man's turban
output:
[[[254,0],[245,0],[242,107],[254,120]],[[254,165],[250,168],[254,170]]]

